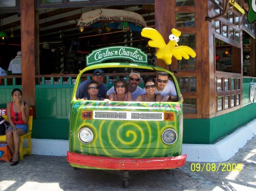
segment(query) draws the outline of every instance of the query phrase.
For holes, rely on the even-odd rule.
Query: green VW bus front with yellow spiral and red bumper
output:
[[[105,73],[114,69],[117,78],[118,71],[137,70],[154,77],[158,71],[165,71],[175,84],[177,101],[77,100],[82,74],[96,69]],[[113,84],[106,78],[110,88]],[[144,88],[143,83],[139,86]],[[148,65],[147,54],[133,47],[97,49],[86,57],[86,67],[77,76],[71,101],[67,160],[72,167],[123,172],[123,186],[127,187],[129,171],[183,166],[187,155],[181,155],[182,139],[183,99],[173,73]]]

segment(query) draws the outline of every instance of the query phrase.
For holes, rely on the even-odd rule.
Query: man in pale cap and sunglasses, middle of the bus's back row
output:
[[[138,95],[143,94],[143,89],[138,86],[140,81],[141,74],[139,74],[138,71],[132,71],[129,75],[127,90],[131,92],[131,95],[133,96],[133,101],[136,99]],[[111,93],[115,93],[114,86],[109,89],[106,95],[109,96],[109,94]]]

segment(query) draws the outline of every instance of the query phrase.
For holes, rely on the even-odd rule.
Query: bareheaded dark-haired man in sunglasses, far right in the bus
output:
[[[169,74],[164,71],[158,71],[156,77],[156,91],[155,94],[161,94],[161,101],[177,101],[177,92],[174,83],[169,80]]]

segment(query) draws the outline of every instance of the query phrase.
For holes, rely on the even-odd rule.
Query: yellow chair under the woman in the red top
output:
[[[6,114],[7,114],[6,109],[0,109],[0,115],[3,116],[6,121],[8,121]],[[33,109],[30,108],[30,117],[28,119],[28,131],[26,134],[20,136],[19,160],[23,160],[23,156],[26,154],[31,155],[32,121],[33,121]],[[24,139],[27,139],[27,147],[23,147]],[[0,135],[0,142],[6,142],[6,135],[2,135],[2,136]]]

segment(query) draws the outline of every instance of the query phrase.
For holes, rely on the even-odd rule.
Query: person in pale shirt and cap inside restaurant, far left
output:
[[[11,71],[13,75],[21,75],[22,73],[21,51],[17,52],[17,56],[13,60],[11,60],[8,70]],[[21,78],[16,78],[16,84],[21,84]]]

